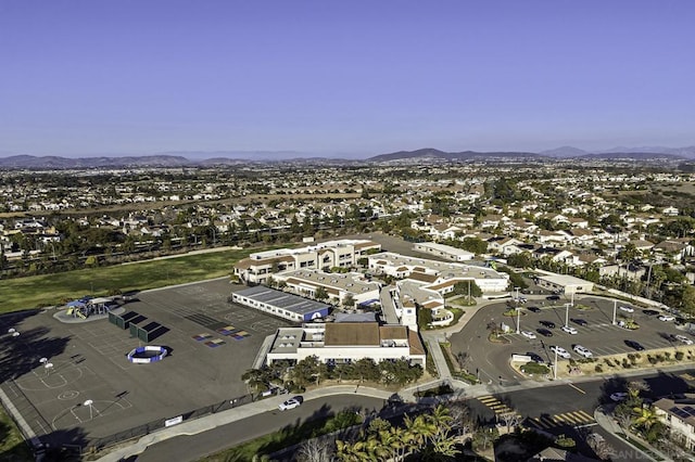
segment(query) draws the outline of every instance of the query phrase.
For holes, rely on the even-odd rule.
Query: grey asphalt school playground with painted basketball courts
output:
[[[126,311],[147,318],[142,323],[165,328],[150,345],[170,354],[149,364],[127,360],[143,343],[108,319],[63,323],[55,310],[0,318],[2,389],[42,440],[81,446],[242,396],[241,374],[265,337],[289,323],[227,303],[232,288],[222,279],[127,303]]]

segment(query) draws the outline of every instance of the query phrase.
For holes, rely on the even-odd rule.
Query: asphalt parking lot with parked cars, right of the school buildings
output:
[[[544,361],[553,362],[554,352],[551,346],[557,345],[570,352],[571,358],[582,357],[573,351],[573,346],[586,347],[594,357],[634,352],[635,349],[629,342],[637,342],[646,350],[682,345],[675,335],[684,335],[695,341],[691,334],[678,329],[672,321],[660,321],[658,315],[645,315],[642,308],[633,307],[633,312],[619,309],[627,304],[618,304],[616,321],[633,319],[640,328],[627,330],[612,324],[614,301],[593,296],[580,296],[574,300],[577,306],[585,306],[587,309],[570,307],[567,310],[566,303],[569,299],[547,300],[545,296],[528,296],[526,304],[520,304],[520,331],[530,331],[535,338],[528,338],[521,333],[517,334],[517,317],[505,317],[503,313],[509,309],[507,303],[497,303],[479,310],[468,321],[462,332],[451,336],[454,354],[464,354],[466,367],[472,373],[477,373],[483,382],[502,382],[510,385],[521,378],[509,367],[513,354],[533,352]],[[539,308],[533,312],[532,307]],[[566,316],[569,325],[577,330],[572,335],[561,331]],[[553,323],[554,328],[544,326],[541,321]],[[488,341],[488,325],[505,323],[509,326],[509,333],[504,337],[509,342],[491,343]],[[538,330],[546,329],[552,336],[543,336]],[[628,343],[626,343],[628,341]],[[694,348],[695,349],[695,348]]]

